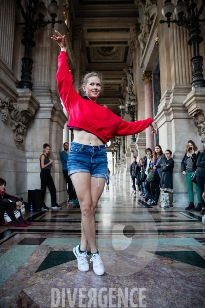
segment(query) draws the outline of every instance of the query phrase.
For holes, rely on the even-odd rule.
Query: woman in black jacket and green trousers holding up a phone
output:
[[[189,194],[189,206],[185,209],[195,209],[194,208],[194,191],[193,191],[193,182],[191,176],[196,171],[196,162],[199,157],[200,152],[194,141],[189,140],[186,145],[186,153],[181,162],[181,171],[182,174],[186,177],[187,187],[188,187],[188,194]],[[194,187],[196,189],[197,201],[198,205],[197,208],[201,207],[201,198],[200,198],[200,189],[199,186],[194,183]]]

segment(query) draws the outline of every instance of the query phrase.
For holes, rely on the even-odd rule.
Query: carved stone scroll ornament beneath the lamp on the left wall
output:
[[[19,143],[24,141],[24,135],[27,132],[31,113],[27,110],[19,111],[17,103],[10,98],[0,100],[0,112],[3,122],[10,118],[15,145],[18,147]]]

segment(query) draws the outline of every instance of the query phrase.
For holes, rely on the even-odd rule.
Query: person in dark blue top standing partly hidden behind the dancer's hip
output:
[[[71,181],[71,178],[68,175],[68,167],[67,167],[67,162],[68,162],[68,142],[64,143],[64,150],[61,151],[60,153],[60,160],[63,165],[63,174],[64,178],[66,179],[67,182],[67,189],[68,189],[68,202],[69,203],[78,203],[77,195],[75,192],[75,188],[73,186],[73,183]]]

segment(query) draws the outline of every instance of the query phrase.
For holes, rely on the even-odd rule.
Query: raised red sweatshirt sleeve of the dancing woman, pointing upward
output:
[[[73,78],[69,71],[68,56],[65,51],[60,51],[58,56],[58,71],[56,74],[57,86],[60,98],[70,114],[70,102],[75,101],[79,94],[73,86]]]

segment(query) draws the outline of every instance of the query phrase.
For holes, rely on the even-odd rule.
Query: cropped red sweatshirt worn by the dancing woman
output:
[[[57,85],[60,98],[70,115],[68,126],[78,127],[95,134],[105,143],[112,136],[128,136],[145,130],[152,119],[127,122],[110,109],[91,100],[83,99],[74,89],[72,75],[69,72],[68,57],[65,51],[58,56]]]

